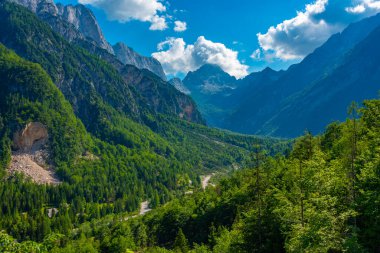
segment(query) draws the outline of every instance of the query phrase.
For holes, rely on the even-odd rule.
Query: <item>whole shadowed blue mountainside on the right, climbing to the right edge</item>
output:
[[[323,126],[327,122],[343,120],[349,103],[345,99],[333,101],[333,97],[327,98],[330,99],[330,106],[334,105],[333,108],[325,108],[319,111],[318,115],[316,115],[317,111],[315,111],[315,114],[311,116],[315,120],[308,121],[311,118],[306,116],[307,114],[301,114],[306,108],[315,107],[315,104],[320,102],[325,103],[322,101],[326,100],[326,96],[329,94],[328,89],[324,90],[324,93],[319,93],[319,96],[314,93],[314,95],[308,97],[309,99],[312,97],[311,100],[307,101],[304,98],[307,97],[309,91],[311,92],[312,87],[319,86],[320,82],[325,82],[322,80],[329,75],[335,75],[336,71],[340,71],[340,67],[347,64],[347,54],[379,25],[380,15],[350,25],[342,33],[332,36],[301,63],[291,66],[277,81],[265,82],[260,89],[250,91],[249,100],[240,105],[240,108],[233,113],[231,119],[229,119],[230,125],[228,128],[243,133],[294,137],[302,134],[306,128],[318,133],[323,130]],[[355,59],[351,58],[348,61],[355,62]],[[369,61],[368,64],[376,66],[377,63],[376,61]],[[359,65],[357,67],[360,68]],[[376,76],[376,72],[367,73],[374,78]],[[346,84],[343,82],[330,83],[330,88],[332,90],[344,90],[344,85]],[[347,90],[347,94],[341,93],[343,97],[359,100],[360,102],[363,98],[376,96],[376,93],[369,94],[374,90],[373,86],[370,86],[373,84],[358,81],[351,85],[361,87],[359,89],[361,93],[351,96],[352,91]],[[326,86],[328,85],[326,84]],[[298,99],[302,100],[303,103]],[[293,112],[290,112],[289,106],[293,108]],[[284,110],[288,111],[287,115],[281,115],[281,111]],[[289,114],[293,116],[288,118]],[[274,117],[278,119],[274,120]],[[297,121],[294,121],[294,125],[290,126],[293,118]],[[287,127],[283,128],[281,124],[284,124],[283,126],[287,125]]]

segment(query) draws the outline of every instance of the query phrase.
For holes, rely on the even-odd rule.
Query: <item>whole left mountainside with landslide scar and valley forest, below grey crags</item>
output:
[[[141,202],[154,208],[198,191],[201,174],[245,164],[255,144],[288,147],[207,128],[193,100],[154,73],[5,1],[0,76],[0,224],[19,242],[107,215],[126,221]]]

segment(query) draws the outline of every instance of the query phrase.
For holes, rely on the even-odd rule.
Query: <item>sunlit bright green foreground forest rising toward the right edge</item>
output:
[[[255,146],[246,169],[144,216],[107,215],[40,243],[2,233],[0,245],[20,252],[379,252],[380,100],[350,112],[324,134],[297,139],[287,155]]]

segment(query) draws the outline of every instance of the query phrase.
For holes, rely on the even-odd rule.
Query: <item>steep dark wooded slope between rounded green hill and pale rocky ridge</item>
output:
[[[105,50],[93,47],[94,52],[102,53],[97,57],[71,45],[22,7],[2,3],[0,12],[2,25],[0,41],[25,58],[39,62],[49,72],[54,83],[72,103],[75,112],[92,133],[103,134],[109,131],[104,115],[108,115],[108,118],[116,115],[116,112],[112,112],[115,110],[133,119],[144,121],[145,115],[149,113],[183,116],[189,114],[188,106],[195,108],[191,99],[177,92],[170,84],[163,83],[159,78],[150,80],[160,82],[161,86],[171,89],[173,92],[168,95],[173,97],[159,97],[160,106],[156,106],[157,102],[153,103],[153,99],[157,100],[157,96],[152,96],[149,92],[142,94],[138,92],[138,87],[128,85],[124,80],[125,77],[123,78],[118,72],[124,68],[123,64]],[[82,44],[88,46],[86,41]],[[136,75],[143,73],[134,69]],[[154,93],[154,89],[149,91]],[[177,95],[182,98],[178,98],[178,104],[175,98]],[[194,117],[190,115],[188,119],[192,117],[197,119],[196,115],[199,113],[195,109],[193,112]]]

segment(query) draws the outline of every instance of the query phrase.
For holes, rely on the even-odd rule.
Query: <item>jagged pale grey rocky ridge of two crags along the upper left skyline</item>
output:
[[[145,57],[124,43],[111,46],[107,42],[94,14],[82,4],[55,4],[53,0],[8,0],[20,4],[47,22],[56,32],[72,42],[88,40],[115,55],[123,64],[148,69],[166,81],[161,63],[153,57]]]

